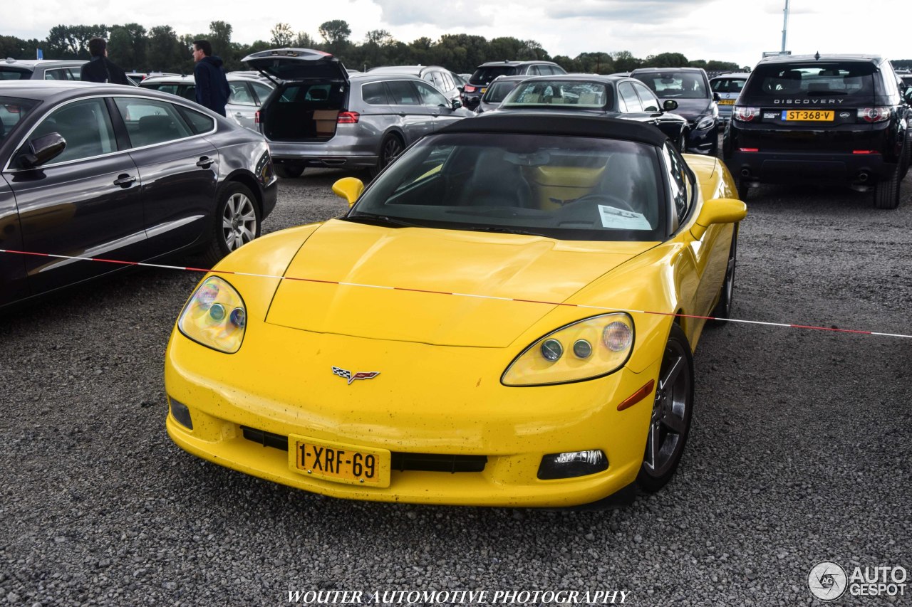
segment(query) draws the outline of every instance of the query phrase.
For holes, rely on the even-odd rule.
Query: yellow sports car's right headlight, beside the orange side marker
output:
[[[606,376],[627,362],[633,337],[633,318],[620,312],[567,324],[523,350],[501,382],[542,386]]]

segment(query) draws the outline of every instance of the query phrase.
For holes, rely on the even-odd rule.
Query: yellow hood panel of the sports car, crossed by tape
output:
[[[565,302],[654,245],[332,220],[295,254],[265,320],[369,339],[506,347],[554,309],[544,303]]]

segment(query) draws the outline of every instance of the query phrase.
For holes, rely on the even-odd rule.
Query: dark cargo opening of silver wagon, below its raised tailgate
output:
[[[263,134],[271,141],[332,139],[347,97],[348,87],[341,82],[282,85],[260,111]]]

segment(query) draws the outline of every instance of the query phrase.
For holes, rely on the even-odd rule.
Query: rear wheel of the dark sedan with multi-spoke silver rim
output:
[[[212,241],[203,254],[211,265],[260,235],[260,210],[246,186],[228,181],[218,189],[215,198]]]

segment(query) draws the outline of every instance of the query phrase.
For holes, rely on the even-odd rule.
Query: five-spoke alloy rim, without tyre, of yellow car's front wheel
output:
[[[674,467],[687,437],[693,392],[684,347],[678,340],[669,340],[662,358],[643,458],[643,470],[653,478],[662,477]]]

